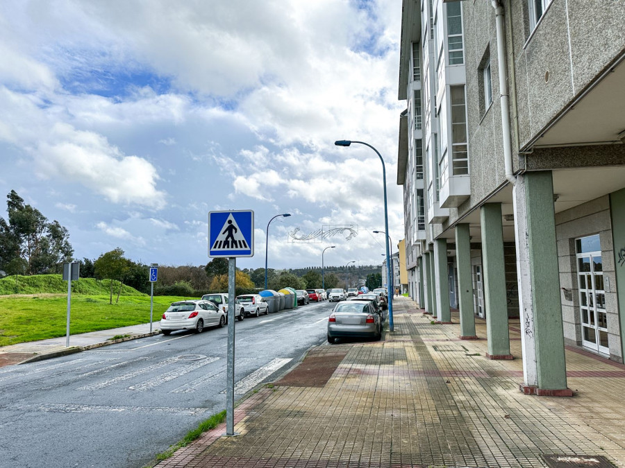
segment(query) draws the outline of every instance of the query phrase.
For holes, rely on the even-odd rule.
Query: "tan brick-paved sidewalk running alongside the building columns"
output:
[[[625,366],[567,349],[575,396],[523,395],[518,320],[515,360],[489,361],[482,320],[480,340],[459,340],[457,315],[431,324],[414,302],[393,304],[382,342],[313,349],[238,406],[240,436],[216,428],[158,467],[547,467],[550,454],[625,467]],[[610,466],[569,462],[560,466]]]

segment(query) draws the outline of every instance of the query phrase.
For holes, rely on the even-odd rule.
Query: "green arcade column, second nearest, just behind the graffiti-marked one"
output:
[[[508,334],[506,263],[503,259],[501,204],[485,203],[482,205],[480,219],[484,265],[484,306],[486,308],[486,335],[488,338],[487,357],[490,359],[512,359],[510,335]]]

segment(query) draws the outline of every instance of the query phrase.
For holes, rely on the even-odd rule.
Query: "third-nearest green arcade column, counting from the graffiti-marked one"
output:
[[[474,340],[473,279],[471,277],[471,240],[469,225],[456,225],[456,262],[458,263],[458,308],[460,309],[460,339]]]

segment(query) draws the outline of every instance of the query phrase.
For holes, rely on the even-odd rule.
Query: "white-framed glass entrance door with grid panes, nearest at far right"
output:
[[[575,245],[582,345],[610,354],[599,234],[576,239]]]

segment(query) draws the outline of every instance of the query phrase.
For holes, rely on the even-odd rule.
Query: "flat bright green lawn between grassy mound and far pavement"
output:
[[[153,322],[167,306],[184,297],[154,296]],[[150,321],[149,295],[120,296],[108,304],[108,295],[72,294],[69,333],[106,330]],[[0,296],[0,346],[65,336],[67,294]]]

